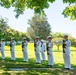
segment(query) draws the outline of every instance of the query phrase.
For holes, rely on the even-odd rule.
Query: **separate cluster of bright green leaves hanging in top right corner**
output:
[[[71,20],[76,19],[76,0],[63,0],[64,3],[69,3],[69,6],[67,6],[63,10],[64,17],[70,17]]]

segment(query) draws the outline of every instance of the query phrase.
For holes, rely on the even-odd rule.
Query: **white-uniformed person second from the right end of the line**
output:
[[[53,67],[53,65],[54,65],[52,48],[53,48],[52,37],[48,36],[48,38],[47,38],[47,55],[48,55],[48,66],[50,66],[50,67]]]

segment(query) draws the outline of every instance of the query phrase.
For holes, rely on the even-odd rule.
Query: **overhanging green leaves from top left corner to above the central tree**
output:
[[[14,7],[17,13],[16,18],[23,14],[26,8],[33,9],[35,13],[44,12],[44,8],[49,7],[49,2],[53,3],[55,0],[0,0],[0,5],[5,8]]]

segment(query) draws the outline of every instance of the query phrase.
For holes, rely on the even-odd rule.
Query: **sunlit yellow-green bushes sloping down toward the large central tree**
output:
[[[8,40],[8,41],[9,41],[12,37],[14,37],[14,39],[15,39],[16,41],[21,41],[23,37],[26,37],[27,40],[29,41],[29,38],[26,36],[26,33],[19,32],[19,31],[14,30],[14,29],[12,29],[12,28],[10,28],[10,27],[6,30],[6,34],[5,34],[5,35],[6,35],[6,36],[5,36],[4,38],[5,38],[6,40]]]

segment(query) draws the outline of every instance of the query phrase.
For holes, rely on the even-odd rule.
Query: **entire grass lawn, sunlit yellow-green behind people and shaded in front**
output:
[[[42,61],[41,64],[35,64],[35,54],[34,47],[32,43],[28,44],[28,55],[29,61],[23,62],[23,55],[21,51],[21,45],[16,46],[16,61],[10,59],[10,48],[9,46],[5,47],[5,56],[6,59],[2,60],[0,55],[0,75],[76,75],[76,48],[71,47],[71,64],[74,70],[65,70],[63,64],[63,57],[60,51],[56,50],[54,46],[54,67],[50,68],[47,66],[47,52],[46,61]],[[28,68],[28,70],[23,71],[11,71],[10,68]],[[37,68],[37,69],[36,69]],[[41,69],[44,68],[44,69]]]

